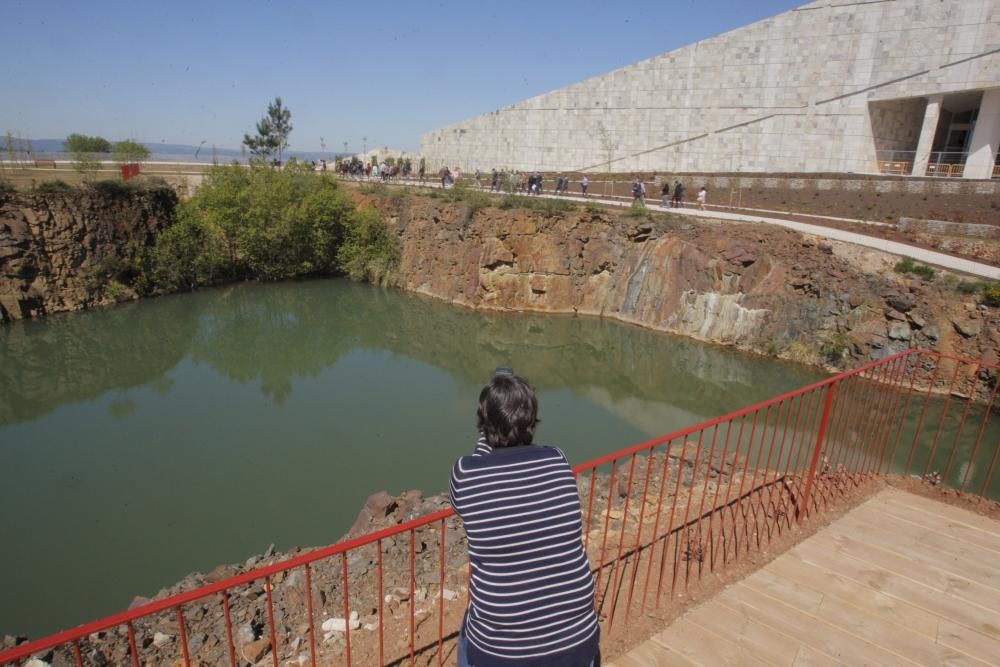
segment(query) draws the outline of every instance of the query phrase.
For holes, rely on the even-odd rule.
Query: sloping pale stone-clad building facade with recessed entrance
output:
[[[989,178],[998,111],[1000,0],[819,0],[428,132],[420,151],[428,168],[464,170],[871,173],[896,160],[924,175],[960,159]],[[979,114],[974,131],[942,130],[963,113]]]

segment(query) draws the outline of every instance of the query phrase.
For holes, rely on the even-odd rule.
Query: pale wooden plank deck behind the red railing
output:
[[[1000,522],[887,489],[612,664],[1000,665]]]

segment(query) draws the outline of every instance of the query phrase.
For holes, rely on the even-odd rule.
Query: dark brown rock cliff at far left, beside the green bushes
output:
[[[0,195],[0,321],[113,301],[100,274],[135,261],[176,203],[166,188]]]

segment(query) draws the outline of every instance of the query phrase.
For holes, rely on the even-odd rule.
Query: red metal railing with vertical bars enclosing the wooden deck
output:
[[[913,471],[995,494],[998,371],[909,350],[576,466],[603,637],[868,478]],[[442,510],[22,644],[0,664],[53,651],[76,665],[443,664],[467,604],[464,550],[447,549],[461,536]]]

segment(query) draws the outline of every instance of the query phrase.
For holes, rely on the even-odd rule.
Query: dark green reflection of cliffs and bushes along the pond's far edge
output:
[[[473,384],[511,364],[539,389],[568,388],[638,421],[657,409],[650,399],[714,416],[767,397],[775,383],[818,377],[604,320],[473,313],[343,283],[243,285],[0,329],[0,424],[112,390],[166,394],[175,382],[167,372],[186,356],[282,405],[297,379],[352,349],[389,351]]]

